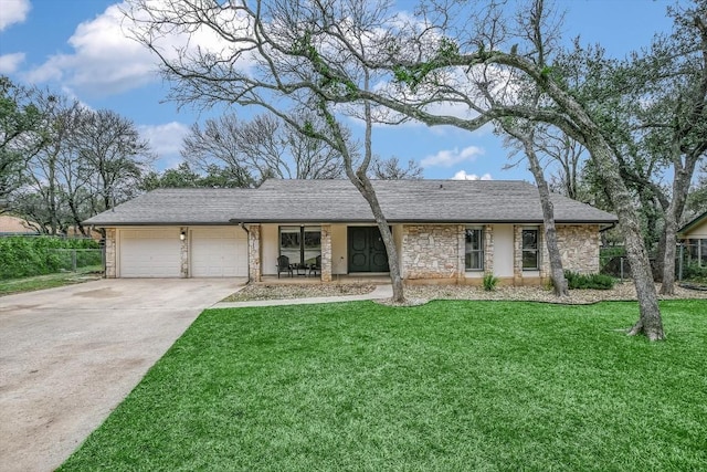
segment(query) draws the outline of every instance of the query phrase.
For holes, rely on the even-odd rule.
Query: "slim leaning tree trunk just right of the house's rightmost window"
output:
[[[535,177],[535,181],[538,186],[538,192],[540,193],[540,206],[542,207],[542,222],[545,224],[545,241],[548,247],[548,255],[550,258],[550,279],[552,280],[552,286],[555,287],[555,294],[557,296],[568,296],[569,289],[567,286],[567,279],[564,279],[564,270],[562,269],[562,256],[560,255],[560,248],[557,243],[557,230],[555,228],[555,209],[550,201],[550,190],[548,182],[545,180],[542,168],[532,148],[532,141],[524,139],[524,147],[528,161],[530,162],[530,171]]]

